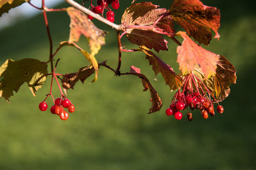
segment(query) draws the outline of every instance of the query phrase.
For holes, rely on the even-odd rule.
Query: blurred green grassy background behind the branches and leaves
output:
[[[172,3],[152,2],[162,8]],[[231,85],[231,94],[222,103],[223,115],[204,120],[196,112],[192,122],[186,115],[181,121],[166,117],[164,110],[174,92],[161,75],[154,76],[143,53],[124,53],[121,70],[129,71],[131,65],[141,68],[163,100],[161,111],[147,114],[150,94],[142,92],[137,77],[116,77],[105,68],[100,68],[96,83],[89,84],[90,77],[84,85],[79,82],[68,90],[76,112],[66,122],[50,111],[38,110],[49,92],[49,78],[36,97],[24,84],[10,104],[0,99],[0,169],[256,169],[255,1],[202,2],[221,11],[220,41],[213,39],[205,48],[224,55],[237,69],[237,83]],[[129,3],[122,1],[115,11],[116,24]],[[48,16],[56,49],[60,41],[68,39],[70,21],[65,12]],[[109,32],[97,60],[108,59],[116,67],[115,31],[95,23]],[[2,30],[0,40],[1,63],[24,57],[46,61],[49,55],[42,15]],[[88,49],[85,38],[79,45]],[[125,39],[123,45],[130,47]],[[176,45],[170,40],[168,46],[168,52],[158,56],[178,71]],[[61,58],[58,73],[71,73],[88,64],[71,47],[62,48],[56,58]],[[54,96],[59,95],[54,85]],[[50,99],[47,102],[52,105]]]

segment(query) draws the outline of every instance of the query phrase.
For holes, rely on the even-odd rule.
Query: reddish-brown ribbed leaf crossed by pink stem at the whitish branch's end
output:
[[[166,14],[166,12],[167,10],[165,8],[157,9],[157,6],[152,3],[144,2],[131,4],[131,6],[124,11],[122,24],[141,25],[141,28],[127,29],[127,38],[129,41],[139,46],[144,45],[150,49],[154,48],[156,52],[159,52],[159,50],[168,50],[168,41],[160,34],[145,29],[146,26],[150,26],[152,29],[159,29],[161,32],[174,34],[173,18],[170,15],[163,17],[154,25],[156,20]]]

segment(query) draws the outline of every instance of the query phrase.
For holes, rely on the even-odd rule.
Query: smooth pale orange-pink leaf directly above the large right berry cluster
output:
[[[182,45],[177,47],[177,62],[179,62],[182,74],[186,75],[191,73],[197,65],[202,69],[205,78],[214,75],[216,73],[216,64],[219,59],[218,55],[197,45],[189,38],[186,32],[179,31],[177,32],[177,35],[184,39]]]

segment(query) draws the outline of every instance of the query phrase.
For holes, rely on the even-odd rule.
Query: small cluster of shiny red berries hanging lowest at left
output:
[[[45,111],[48,108],[48,105],[45,101],[42,101],[39,104],[39,109],[41,111]],[[64,108],[68,108],[69,113],[73,113],[75,111],[74,105],[70,102],[68,99],[61,99],[61,97],[58,97],[54,101],[54,105],[51,107],[51,113],[59,115],[61,120],[67,120],[68,119],[68,113],[64,110]]]

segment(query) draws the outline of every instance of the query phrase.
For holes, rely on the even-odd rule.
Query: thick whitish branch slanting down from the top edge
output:
[[[100,22],[103,22],[104,24],[109,25],[110,27],[113,27],[113,29],[116,29],[118,31],[122,30],[122,25],[116,25],[113,22],[110,22],[109,20],[107,20],[106,18],[101,17],[100,15],[94,13],[93,11],[88,10],[87,8],[84,8],[84,6],[81,6],[80,4],[76,3],[73,0],[65,0],[67,1],[68,4],[74,6],[75,8],[77,8],[80,11],[83,11],[84,13],[91,15],[93,18],[96,18],[97,20],[99,20]]]

